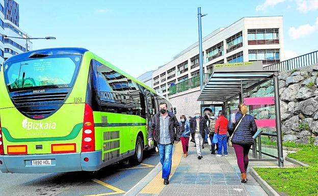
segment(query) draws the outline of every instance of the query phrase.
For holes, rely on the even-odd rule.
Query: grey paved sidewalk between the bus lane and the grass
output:
[[[182,157],[170,178],[169,185],[164,186],[158,193],[139,193],[137,195],[268,195],[250,174],[248,174],[247,183],[242,184],[240,182],[241,173],[236,164],[233,148],[228,149],[228,157],[216,157],[210,154],[210,146],[204,145],[203,158],[198,160],[196,149],[193,147],[194,144],[190,143],[189,145],[189,156],[187,158]],[[180,147],[176,147],[176,151],[180,151],[180,149]],[[180,153],[177,154],[180,156]],[[250,162],[250,165],[277,166],[277,162]],[[163,183],[163,180],[156,180],[157,186],[161,186],[159,183]],[[155,189],[153,185],[151,187]],[[148,188],[151,187],[148,186]]]

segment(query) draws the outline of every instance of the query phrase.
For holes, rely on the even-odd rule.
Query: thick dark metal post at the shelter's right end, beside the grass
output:
[[[276,131],[277,131],[277,150],[278,150],[278,166],[284,166],[283,157],[283,141],[281,131],[281,120],[280,120],[280,97],[279,97],[279,84],[278,84],[278,73],[274,73],[274,93],[275,93],[275,110],[276,110]]]

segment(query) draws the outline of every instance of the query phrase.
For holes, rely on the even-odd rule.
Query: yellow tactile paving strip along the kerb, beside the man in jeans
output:
[[[172,155],[172,165],[171,165],[171,178],[176,171],[181,158],[182,158],[183,152],[182,152],[182,145],[181,143],[178,143],[175,145],[175,150]],[[164,180],[162,179],[162,171],[158,173],[141,191],[140,193],[148,193],[148,194],[158,194],[164,189]]]

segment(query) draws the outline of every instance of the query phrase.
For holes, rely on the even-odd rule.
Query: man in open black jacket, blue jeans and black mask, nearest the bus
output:
[[[160,162],[162,166],[162,178],[164,184],[169,184],[169,176],[172,163],[172,147],[180,141],[180,125],[173,113],[167,110],[167,103],[159,104],[160,112],[152,117],[148,130],[148,145],[151,146],[154,139],[158,144]]]

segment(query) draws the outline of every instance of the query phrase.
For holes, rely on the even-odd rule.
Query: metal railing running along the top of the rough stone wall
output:
[[[268,65],[263,67],[263,70],[277,70],[277,71],[288,71],[298,69],[304,66],[313,65],[318,63],[318,50],[310,52],[293,59],[288,59],[279,63]]]

